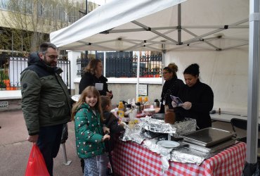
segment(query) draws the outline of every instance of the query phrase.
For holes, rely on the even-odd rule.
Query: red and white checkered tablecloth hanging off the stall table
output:
[[[113,165],[118,175],[241,175],[245,165],[246,144],[240,142],[221,151],[201,165],[169,162],[162,173],[160,155],[134,142],[117,141],[113,150]]]

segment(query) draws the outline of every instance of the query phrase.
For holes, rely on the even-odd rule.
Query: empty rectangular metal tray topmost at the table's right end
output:
[[[217,128],[207,127],[195,132],[181,135],[183,140],[199,146],[213,146],[231,139],[235,133]]]

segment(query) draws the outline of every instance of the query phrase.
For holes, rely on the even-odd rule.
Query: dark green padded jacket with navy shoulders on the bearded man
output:
[[[71,98],[59,68],[48,67],[37,54],[30,56],[22,71],[22,112],[28,133],[38,134],[39,127],[70,121]]]

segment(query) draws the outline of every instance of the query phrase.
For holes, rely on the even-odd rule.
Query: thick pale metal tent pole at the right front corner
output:
[[[247,100],[247,163],[256,163],[259,117],[259,0],[249,6],[249,78]]]

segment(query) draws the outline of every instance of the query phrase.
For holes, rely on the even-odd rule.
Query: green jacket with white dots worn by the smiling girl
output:
[[[79,158],[91,158],[104,153],[105,143],[103,138],[100,113],[93,113],[88,104],[83,103],[77,109],[74,117],[77,155]]]

